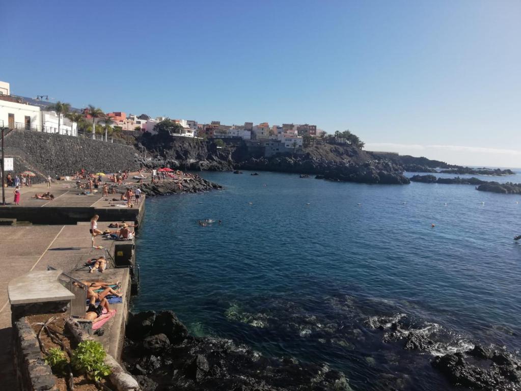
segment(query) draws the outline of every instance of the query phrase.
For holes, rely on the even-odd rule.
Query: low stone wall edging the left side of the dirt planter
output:
[[[13,323],[14,361],[20,391],[55,391],[56,378],[43,359],[38,339],[27,318]]]

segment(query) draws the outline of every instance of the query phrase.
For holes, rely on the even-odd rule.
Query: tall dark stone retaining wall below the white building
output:
[[[70,175],[82,168],[88,172],[139,168],[135,159],[136,150],[132,146],[89,138],[16,130],[6,136],[5,146],[7,153],[9,149],[23,151],[28,165],[20,165],[20,168],[32,166],[33,170],[53,177]]]

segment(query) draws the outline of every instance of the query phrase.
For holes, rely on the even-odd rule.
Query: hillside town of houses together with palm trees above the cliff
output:
[[[179,124],[170,134],[178,137],[215,138],[224,141],[244,140],[265,147],[266,155],[295,152],[302,149],[304,140],[324,136],[316,125],[283,123],[269,125],[222,124],[220,121],[199,123],[195,120],[152,118],[146,114],[133,115],[123,111],[103,112],[89,106],[73,108],[69,104],[49,102],[47,95],[28,98],[11,94],[10,84],[0,81],[0,127],[33,130],[69,136],[86,136],[107,142],[120,142],[125,135],[139,136],[157,133],[157,125],[165,120]]]

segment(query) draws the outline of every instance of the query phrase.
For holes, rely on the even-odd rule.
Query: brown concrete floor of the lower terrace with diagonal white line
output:
[[[98,223],[98,227],[103,230],[108,224]],[[102,237],[95,238],[95,245],[107,247],[109,251],[114,243],[114,241]],[[0,270],[2,270],[0,273],[0,346],[3,347],[0,349],[0,379],[9,384],[9,386],[5,386],[3,383],[3,387],[6,387],[3,389],[14,390],[16,382],[14,382],[14,374],[11,371],[13,357],[10,350],[12,335],[11,311],[7,297],[8,282],[31,270],[47,270],[47,266],[64,272],[72,272],[81,269],[85,261],[105,255],[105,250],[92,248],[89,223],[0,226],[0,248],[2,249],[0,253]],[[111,279],[115,277],[112,275],[115,272],[89,273],[88,269],[83,268],[75,272],[75,278],[84,276],[85,279]],[[117,272],[118,279],[122,280],[123,276],[119,274],[123,272],[119,270]],[[121,309],[120,312],[123,314],[126,310]],[[118,322],[120,323],[121,320]]]

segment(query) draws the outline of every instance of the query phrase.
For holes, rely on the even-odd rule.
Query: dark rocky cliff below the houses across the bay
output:
[[[244,142],[217,146],[214,141],[186,137],[142,137],[139,160],[145,167],[184,170],[233,169],[322,175],[322,178],[362,183],[408,184],[403,169],[390,160],[350,145],[317,144],[294,154],[264,157]]]

